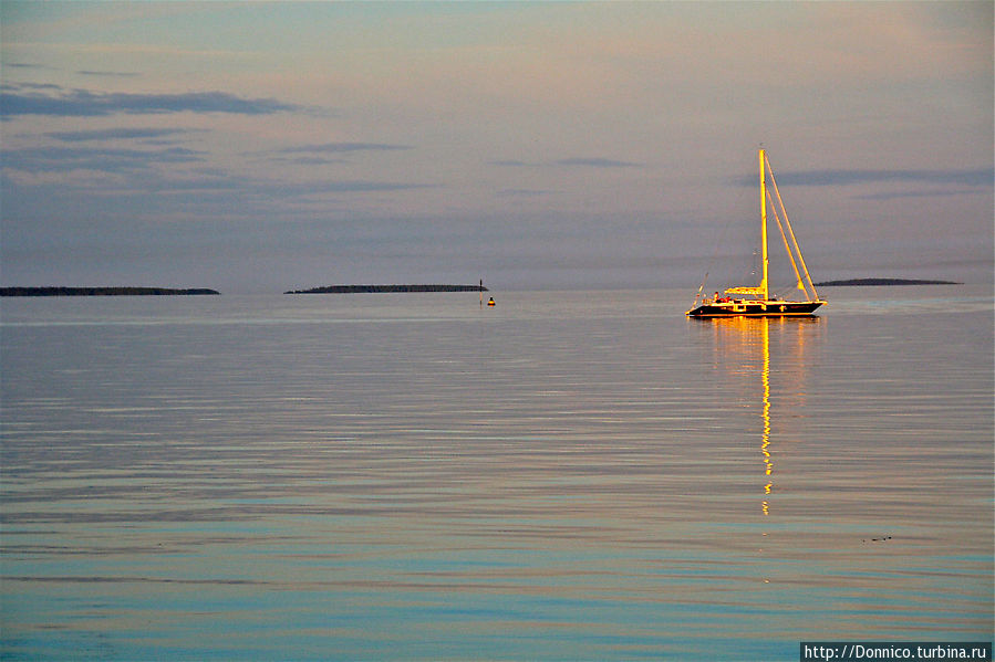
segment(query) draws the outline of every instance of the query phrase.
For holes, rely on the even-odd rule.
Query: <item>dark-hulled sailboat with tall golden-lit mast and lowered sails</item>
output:
[[[780,199],[780,192],[777,190],[777,181],[774,179],[774,170],[767,160],[764,149],[759,150],[760,162],[760,263],[763,265],[763,275],[758,285],[746,285],[727,288],[724,294],[717,292],[713,296],[703,296],[702,290],[705,284],[698,287],[698,293],[694,297],[694,305],[685,313],[688,317],[784,317],[789,315],[811,315],[816,308],[826,302],[819,298],[812,279],[809,276],[808,269],[805,266],[805,259],[801,256],[801,249],[795,239],[795,232],[788,221],[788,212],[785,210],[784,202]],[[774,198],[770,199],[770,209],[774,211],[774,218],[777,220],[777,227],[780,230],[781,239],[784,239],[785,250],[791,260],[791,266],[795,269],[797,279],[797,288],[805,294],[805,301],[789,301],[780,298],[770,292],[768,285],[768,263],[767,258],[767,172],[770,174],[770,185],[774,189]],[[776,204],[775,204],[776,198]],[[787,231],[786,231],[787,230]],[[800,271],[799,271],[800,266]]]

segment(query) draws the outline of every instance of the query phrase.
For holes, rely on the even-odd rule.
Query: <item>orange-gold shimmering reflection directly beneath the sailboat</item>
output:
[[[791,441],[786,427],[791,420],[781,416],[776,428],[771,420],[774,401],[778,413],[791,409],[798,411],[806,402],[805,377],[809,360],[806,356],[809,344],[822,334],[825,323],[821,317],[728,317],[706,322],[714,334],[716,368],[743,378],[745,407],[752,407],[759,395],[760,408],[760,461],[764,467],[763,498],[760,511],[770,515],[770,495],[775,487],[775,448],[771,438],[776,432],[778,442]],[[773,345],[771,345],[773,337]],[[776,396],[771,398],[771,354],[774,375],[777,379]],[[759,377],[759,393],[756,390]]]

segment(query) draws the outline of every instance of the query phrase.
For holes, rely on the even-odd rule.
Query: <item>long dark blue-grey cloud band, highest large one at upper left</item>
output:
[[[34,87],[38,90],[38,87]],[[44,115],[54,117],[97,117],[115,114],[152,115],[163,113],[231,113],[271,115],[300,111],[301,106],[273,98],[243,98],[225,92],[185,94],[102,93],[56,87],[55,94],[23,92],[14,86],[0,91],[0,117]]]

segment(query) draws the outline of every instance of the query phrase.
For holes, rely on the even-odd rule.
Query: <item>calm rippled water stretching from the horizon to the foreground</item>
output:
[[[991,287],[3,300],[3,659],[991,640]]]

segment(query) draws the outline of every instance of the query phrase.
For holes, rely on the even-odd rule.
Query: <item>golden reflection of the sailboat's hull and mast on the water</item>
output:
[[[765,517],[770,515],[770,494],[774,490],[774,454],[771,453],[771,398],[770,398],[770,333],[777,334],[778,366],[788,369],[777,370],[778,378],[784,378],[781,392],[797,396],[799,406],[805,402],[805,366],[806,339],[813,329],[821,330],[820,317],[730,317],[709,321],[714,325],[718,343],[728,350],[736,369],[753,376],[758,372],[760,381],[760,458],[764,465],[764,498],[760,511]],[[748,388],[748,387],[747,387]],[[749,389],[747,400],[755,397]],[[787,406],[789,402],[785,402]],[[782,413],[779,410],[779,413]],[[789,434],[786,429],[778,430],[780,438]]]

